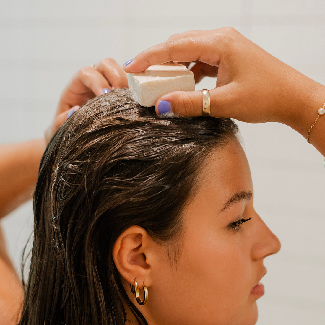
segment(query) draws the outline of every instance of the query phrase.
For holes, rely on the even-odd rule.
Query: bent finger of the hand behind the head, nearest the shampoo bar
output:
[[[110,58],[104,59],[95,68],[104,75],[111,87],[123,88],[128,86],[126,73],[115,60]]]

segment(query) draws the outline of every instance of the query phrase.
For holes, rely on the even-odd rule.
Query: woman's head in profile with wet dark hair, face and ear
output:
[[[157,117],[124,89],[74,113],[41,162],[21,323],[252,321],[250,290],[278,242],[253,211],[236,133],[229,119]],[[235,233],[246,216],[251,230]],[[135,278],[149,291],[141,308]]]

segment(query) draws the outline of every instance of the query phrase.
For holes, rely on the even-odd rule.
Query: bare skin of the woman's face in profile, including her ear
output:
[[[255,324],[261,294],[251,291],[266,273],[264,258],[277,253],[280,243],[255,212],[253,197],[223,209],[234,194],[253,193],[237,140],[212,153],[198,184],[183,211],[176,262],[170,264],[167,253],[175,244],[159,245],[141,227],[130,227],[116,241],[113,259],[125,290],[150,325]],[[234,222],[249,218],[233,229]],[[135,278],[138,287],[148,288],[146,305],[139,306],[131,294]]]

